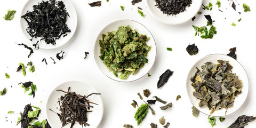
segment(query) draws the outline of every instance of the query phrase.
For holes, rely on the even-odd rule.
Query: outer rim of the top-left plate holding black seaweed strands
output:
[[[23,33],[23,37],[25,37],[28,41],[29,41],[29,43],[31,43],[31,41],[30,41],[30,39],[29,38],[27,38],[27,36],[29,36],[29,37],[31,37],[30,35],[27,35],[28,33],[26,33],[23,29],[22,29],[22,21],[24,20],[24,19],[22,19],[21,18],[21,16],[22,15],[24,15],[24,14],[22,14],[22,12],[23,11],[25,11],[25,6],[27,6],[27,4],[29,4],[29,2],[31,2],[31,1],[33,1],[33,0],[28,0],[24,5],[23,5],[23,7],[22,7],[22,10],[21,10],[21,12],[20,12],[20,22],[19,22],[19,24],[20,24],[20,29],[21,29],[21,31],[22,31],[22,33]],[[39,1],[39,0],[38,0]],[[42,1],[49,1],[49,0],[42,0]],[[75,27],[74,27],[74,33],[71,33],[71,36],[70,36],[70,38],[69,39],[67,39],[67,41],[66,42],[64,42],[64,43],[62,43],[61,45],[52,45],[52,46],[50,46],[50,47],[39,47],[40,49],[44,49],[44,50],[51,50],[51,49],[57,49],[57,48],[59,48],[59,47],[61,47],[61,46],[63,46],[63,45],[65,45],[65,44],[67,44],[68,42],[70,42],[70,40],[73,38],[73,36],[74,36],[74,34],[75,34],[75,32],[76,32],[76,29],[77,29],[77,22],[78,22],[78,18],[77,18],[77,12],[76,12],[76,9],[75,9],[75,7],[74,7],[74,5],[69,1],[69,0],[55,0],[55,2],[58,2],[58,1],[63,1],[63,2],[65,2],[65,1],[67,1],[68,3],[70,3],[69,4],[69,6],[71,6],[71,9],[73,9],[74,10],[74,18],[75,18],[75,20],[76,20],[76,22],[74,23],[74,25],[75,25]],[[32,8],[32,7],[31,7]],[[67,9],[67,6],[65,5],[65,8]],[[28,10],[27,10],[28,11]],[[26,22],[26,21],[25,21]],[[25,27],[25,29],[26,29],[27,27]],[[63,38],[63,37],[62,37]],[[35,39],[35,38],[33,38],[33,39]],[[39,41],[39,43],[41,42],[40,41],[40,39],[38,40]],[[43,42],[43,43],[45,43],[45,42]],[[49,44],[50,45],[50,44]]]

